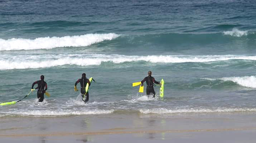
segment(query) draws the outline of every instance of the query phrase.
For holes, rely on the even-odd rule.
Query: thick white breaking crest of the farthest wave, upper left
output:
[[[115,33],[107,33],[64,37],[40,37],[36,39],[0,39],[0,51],[90,46],[91,44],[102,42],[105,40],[112,40],[119,36],[120,35],[117,35]]]

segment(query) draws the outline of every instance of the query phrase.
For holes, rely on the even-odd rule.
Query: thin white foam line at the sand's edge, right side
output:
[[[204,113],[204,112],[242,112],[242,111],[256,111],[256,108],[190,108],[190,109],[166,109],[166,108],[157,108],[157,109],[140,109],[141,113],[155,113],[155,114],[166,114],[166,113]]]

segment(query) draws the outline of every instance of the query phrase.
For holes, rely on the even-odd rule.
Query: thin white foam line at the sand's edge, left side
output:
[[[94,115],[94,114],[109,114],[114,110],[83,110],[83,111],[68,111],[68,110],[31,110],[31,111],[6,111],[0,112],[3,115],[19,115],[19,116],[67,116],[67,115]]]

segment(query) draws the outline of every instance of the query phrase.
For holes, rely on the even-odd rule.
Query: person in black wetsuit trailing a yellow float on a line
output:
[[[34,85],[37,84],[37,98],[38,98],[38,102],[43,102],[44,100],[44,93],[47,90],[47,83],[44,81],[44,76],[41,75],[40,76],[41,80],[35,81],[32,84],[32,88],[31,90],[34,88]]]

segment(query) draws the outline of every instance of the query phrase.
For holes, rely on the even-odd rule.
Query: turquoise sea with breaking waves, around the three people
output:
[[[256,111],[254,1],[0,1],[0,116]],[[138,93],[148,70],[165,98]],[[96,80],[84,104],[74,83]],[[155,87],[159,95],[159,86]]]

